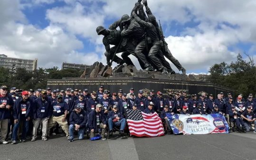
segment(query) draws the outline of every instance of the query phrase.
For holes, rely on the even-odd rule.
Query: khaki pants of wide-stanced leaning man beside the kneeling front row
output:
[[[64,118],[64,114],[61,115],[61,116],[58,116],[58,117],[55,117],[55,116],[52,116],[50,119],[49,119],[49,122],[48,122],[48,130],[47,130],[47,136],[49,136],[50,134],[50,129],[56,124],[58,123],[62,130],[66,133],[66,137],[69,135],[68,134],[68,125],[67,125],[67,121],[65,122],[62,122],[62,119]]]

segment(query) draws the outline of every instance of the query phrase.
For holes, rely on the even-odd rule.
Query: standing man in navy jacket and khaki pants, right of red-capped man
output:
[[[46,90],[41,92],[41,96],[39,96],[34,104],[33,104],[33,132],[32,132],[32,140],[36,141],[38,134],[38,126],[40,121],[42,121],[42,140],[47,141],[47,127],[48,127],[48,119],[51,117],[51,102],[47,97]]]

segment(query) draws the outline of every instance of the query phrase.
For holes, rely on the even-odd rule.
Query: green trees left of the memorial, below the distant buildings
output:
[[[35,71],[28,71],[24,68],[17,68],[12,76],[9,69],[0,67],[0,85],[17,87],[19,89],[45,89],[48,79],[62,79],[62,77],[80,77],[83,71],[74,69],[60,70],[58,67],[38,68]]]

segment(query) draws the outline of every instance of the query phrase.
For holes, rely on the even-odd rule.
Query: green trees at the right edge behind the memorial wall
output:
[[[208,82],[232,88],[236,94],[256,94],[256,65],[253,57],[245,55],[248,60],[238,54],[236,62],[221,62],[211,66]]]

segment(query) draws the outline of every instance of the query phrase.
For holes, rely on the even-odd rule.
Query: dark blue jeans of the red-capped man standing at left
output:
[[[18,138],[18,130],[19,130],[19,124],[23,123],[22,126],[22,134],[21,134],[21,140],[26,140],[28,127],[29,127],[29,121],[26,120],[19,120],[16,124],[14,124],[13,130],[12,130],[12,141],[16,140]]]

